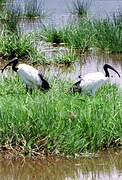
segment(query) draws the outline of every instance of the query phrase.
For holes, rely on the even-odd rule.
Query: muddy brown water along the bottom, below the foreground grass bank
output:
[[[79,159],[0,160],[0,180],[121,180],[122,152]]]

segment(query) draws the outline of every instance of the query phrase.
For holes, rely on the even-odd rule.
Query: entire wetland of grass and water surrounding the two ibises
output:
[[[20,9],[17,16],[1,11],[0,67],[17,56],[41,71],[51,90],[26,94],[10,68],[0,74],[1,180],[122,178],[121,78],[111,72],[95,97],[69,93],[79,75],[103,72],[105,63],[122,76],[122,3],[89,2],[84,17],[70,1],[4,4]]]

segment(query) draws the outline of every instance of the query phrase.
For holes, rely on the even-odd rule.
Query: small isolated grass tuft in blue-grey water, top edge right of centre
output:
[[[73,0],[73,9],[71,10],[71,13],[77,15],[78,17],[87,17],[91,2],[92,0]]]

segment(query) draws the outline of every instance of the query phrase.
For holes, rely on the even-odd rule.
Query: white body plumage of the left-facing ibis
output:
[[[17,73],[28,87],[41,87],[42,80],[37,69],[27,64],[19,64]]]

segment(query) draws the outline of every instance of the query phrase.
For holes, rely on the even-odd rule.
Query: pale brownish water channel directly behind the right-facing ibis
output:
[[[47,48],[46,50],[48,52],[50,48],[49,49]],[[113,66],[122,77],[122,54],[115,54],[115,53],[108,54],[102,52],[101,53],[89,52],[89,53],[85,53],[84,56],[78,57],[76,62],[71,66],[67,67],[65,65],[51,64],[48,66],[40,66],[39,70],[42,71],[42,73],[48,77],[56,76],[76,82],[78,81],[79,75],[85,75],[87,73],[96,72],[96,71],[104,73],[103,65],[105,63]],[[109,72],[111,76],[110,82],[116,83],[119,85],[120,88],[122,88],[122,78],[118,77],[118,75],[112,70],[110,70]]]

